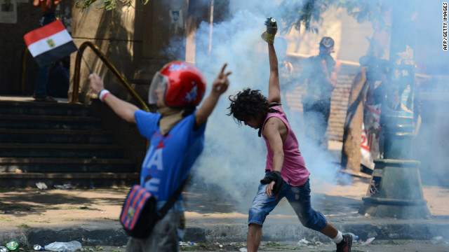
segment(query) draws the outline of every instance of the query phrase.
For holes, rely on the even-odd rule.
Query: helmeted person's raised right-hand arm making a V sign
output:
[[[227,64],[222,66],[222,70],[218,73],[217,78],[213,81],[212,90],[210,90],[210,94],[206,99],[204,99],[203,104],[199,107],[199,109],[195,112],[195,125],[199,127],[206,123],[208,117],[212,113],[213,109],[217,105],[218,99],[220,95],[226,92],[227,87],[229,86],[229,80],[227,76],[232,72],[228,71],[225,73],[225,68]]]

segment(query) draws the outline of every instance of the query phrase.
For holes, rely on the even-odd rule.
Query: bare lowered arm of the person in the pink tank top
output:
[[[273,151],[273,171],[281,172],[283,165],[283,141],[281,137],[281,127],[283,122],[279,118],[269,118],[264,127],[264,137],[267,138],[270,148]],[[272,190],[275,182],[269,183],[265,189],[268,197],[272,197]]]

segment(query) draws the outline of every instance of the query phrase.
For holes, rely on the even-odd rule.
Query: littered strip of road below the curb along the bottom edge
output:
[[[181,251],[194,251],[194,252],[212,252],[212,251],[244,251],[246,244],[241,242],[226,243],[226,244],[210,244],[200,243],[182,246]],[[243,248],[241,250],[241,248]],[[105,251],[105,252],[122,252],[126,250],[126,247],[114,247],[114,246],[96,246],[96,247],[83,247],[84,251]],[[314,245],[298,245],[297,242],[262,242],[259,251],[265,252],[279,252],[279,251],[300,251],[300,252],[331,252],[335,251],[335,245],[330,243],[314,244]],[[374,240],[368,246],[363,246],[361,243],[354,243],[352,246],[352,252],[448,252],[449,243],[448,240],[443,240],[438,244],[433,244],[428,240]]]

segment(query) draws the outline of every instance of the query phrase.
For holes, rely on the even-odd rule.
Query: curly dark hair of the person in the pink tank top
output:
[[[264,120],[269,111],[267,97],[260,93],[260,90],[244,89],[237,94],[229,95],[231,104],[227,109],[227,116],[234,116],[234,119],[241,125],[246,120]]]

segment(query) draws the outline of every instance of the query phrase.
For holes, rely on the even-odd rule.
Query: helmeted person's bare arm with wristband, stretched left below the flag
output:
[[[89,80],[91,80],[92,90],[96,94],[105,89],[103,80],[97,73],[92,73],[89,76]],[[121,117],[123,120],[126,120],[128,123],[135,123],[134,113],[135,111],[138,111],[139,108],[134,104],[125,102],[114,96],[114,94],[107,94],[105,97],[105,103],[117,114],[117,116]]]

